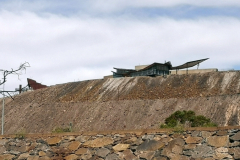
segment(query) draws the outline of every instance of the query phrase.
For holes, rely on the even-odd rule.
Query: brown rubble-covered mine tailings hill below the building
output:
[[[52,132],[70,123],[76,132],[154,129],[177,110],[239,125],[239,93],[238,71],[71,82],[7,98],[4,128],[6,134]]]

